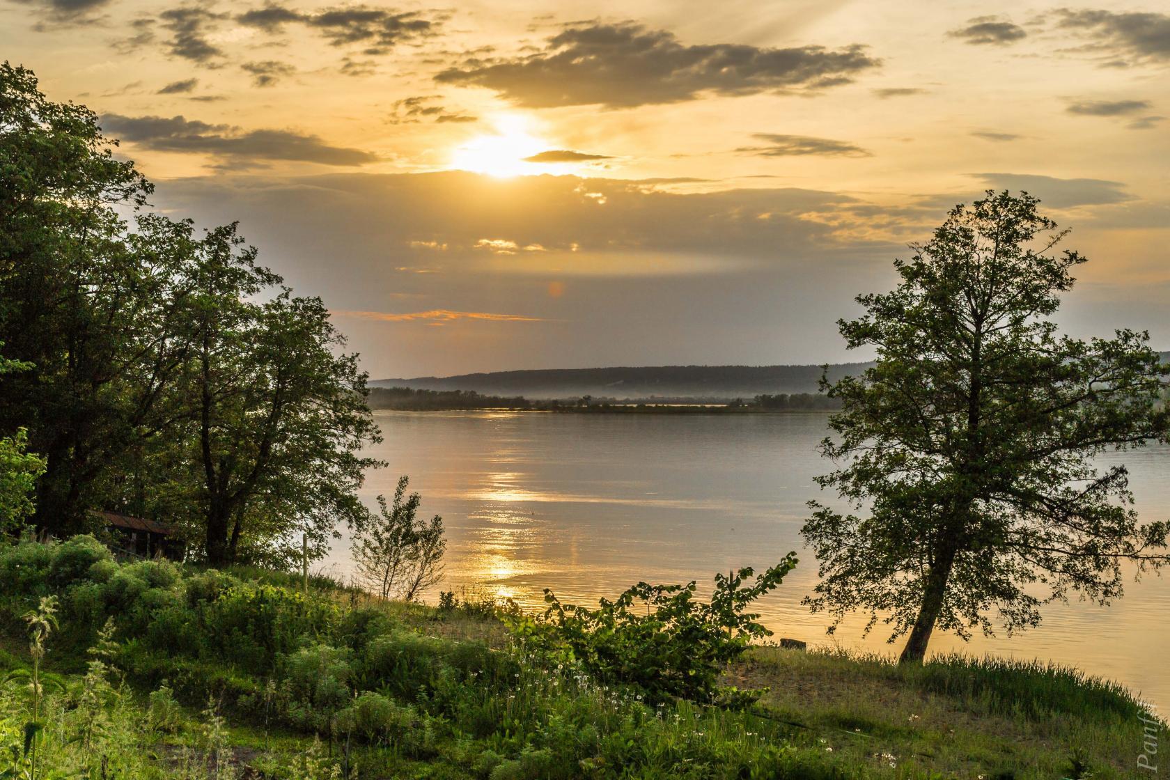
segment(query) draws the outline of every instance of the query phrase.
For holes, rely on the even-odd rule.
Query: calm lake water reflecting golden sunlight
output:
[[[805,502],[827,470],[815,451],[820,414],[584,415],[379,412],[385,442],[371,454],[366,497],[393,493],[399,475],[442,515],[448,538],[442,589],[484,588],[537,607],[542,589],[596,602],[639,580],[710,582],[716,571],[762,570],[796,550],[801,564],[762,605],[777,636],[894,653],[862,620],[825,635],[827,620],[800,606],[817,566],[799,530]],[[1124,462],[1143,519],[1170,515],[1170,449],[1114,455]],[[826,502],[832,504],[833,502]],[[345,573],[349,543],[330,565]],[[436,599],[427,594],[428,601]],[[703,589],[701,588],[701,593]],[[1038,657],[1113,677],[1170,706],[1170,575],[1127,584],[1112,607],[1053,605],[1012,639],[970,643],[936,634],[936,650]]]

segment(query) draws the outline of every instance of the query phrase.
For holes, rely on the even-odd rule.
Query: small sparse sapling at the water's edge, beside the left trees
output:
[[[442,577],[447,550],[442,518],[418,519],[422,498],[417,492],[407,496],[408,484],[408,477],[399,478],[390,506],[385,496],[378,496],[378,515],[369,515],[353,533],[358,580],[383,599],[398,595],[413,601],[419,591]]]

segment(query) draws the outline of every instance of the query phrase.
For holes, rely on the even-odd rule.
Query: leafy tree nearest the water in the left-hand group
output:
[[[186,223],[190,350],[174,391],[181,409],[168,465],[173,516],[201,536],[208,562],[287,562],[308,534],[324,553],[355,524],[363,447],[380,441],[366,374],[319,298],[296,297],[256,265],[236,226],[195,240]],[[267,302],[255,298],[271,295]]]

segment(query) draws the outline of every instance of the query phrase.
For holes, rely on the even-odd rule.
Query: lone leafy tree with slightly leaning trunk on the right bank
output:
[[[1124,467],[1092,461],[1166,440],[1170,366],[1147,333],[1058,334],[1049,318],[1085,258],[1054,251],[1067,232],[1037,203],[989,191],[956,206],[895,262],[899,287],[839,323],[878,360],[823,380],[842,403],[823,453],[846,463],[818,482],[869,513],[811,503],[803,534],[823,579],[806,602],[838,622],[866,609],[867,630],[881,614],[890,641],[909,633],[903,662],[936,627],[968,639],[994,617],[1012,633],[1069,592],[1120,596],[1124,561],[1140,574],[1170,560],[1168,524],[1138,523]]]

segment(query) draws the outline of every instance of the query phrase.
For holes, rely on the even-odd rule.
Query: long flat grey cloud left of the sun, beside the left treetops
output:
[[[359,149],[330,146],[317,136],[290,130],[249,130],[176,117],[126,117],[106,113],[105,132],[144,149],[161,152],[211,154],[236,166],[261,160],[291,160],[321,165],[356,166],[373,163],[376,154]]]

